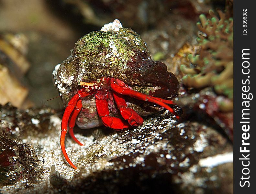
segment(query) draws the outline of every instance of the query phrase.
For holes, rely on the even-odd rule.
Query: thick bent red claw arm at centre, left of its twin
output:
[[[95,100],[96,100],[96,108],[97,108],[98,115],[101,118],[102,123],[106,127],[110,127],[117,131],[130,128],[130,125],[125,121],[117,117],[109,116],[108,103],[106,99],[96,98]]]

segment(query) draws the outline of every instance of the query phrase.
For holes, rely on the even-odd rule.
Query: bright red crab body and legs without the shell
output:
[[[77,142],[79,145],[83,145],[80,143],[73,134],[73,127],[75,125],[75,121],[77,115],[82,109],[82,99],[88,95],[95,95],[96,108],[99,117],[102,120],[102,123],[109,128],[115,129],[117,131],[128,129],[131,126],[139,126],[143,123],[143,119],[136,113],[133,109],[127,106],[125,102],[124,95],[128,95],[130,97],[153,102],[156,103],[170,112],[175,114],[173,109],[166,104],[174,104],[171,100],[164,100],[161,98],[149,96],[140,92],[136,92],[128,87],[123,81],[115,79],[115,78],[101,78],[97,79],[95,82],[87,83],[87,82],[79,82],[79,85],[83,86],[69,101],[67,108],[62,117],[61,122],[61,150],[66,158],[67,162],[73,167],[74,164],[69,159],[66,149],[65,149],[65,136],[69,126],[69,133],[71,137]],[[123,119],[109,116],[109,108],[108,101],[109,96],[113,96],[116,102],[116,105],[122,115]],[[176,115],[177,118],[179,116]]]

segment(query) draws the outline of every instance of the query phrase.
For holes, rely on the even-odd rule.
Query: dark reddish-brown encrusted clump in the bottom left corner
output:
[[[35,183],[42,174],[38,157],[31,145],[20,143],[17,139],[11,138],[6,131],[1,130],[0,185],[10,185],[19,181],[26,186]]]

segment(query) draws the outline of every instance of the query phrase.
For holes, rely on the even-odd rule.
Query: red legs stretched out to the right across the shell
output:
[[[161,98],[152,97],[152,96],[149,96],[149,95],[131,90],[131,89],[128,88],[128,86],[123,81],[115,79],[115,78],[111,78],[109,83],[110,83],[110,87],[115,92],[117,92],[119,94],[131,96],[133,98],[137,98],[137,99],[143,100],[143,101],[156,103],[156,104],[166,108],[171,113],[173,113],[176,116],[177,119],[180,118],[179,116],[176,115],[176,113],[174,112],[174,110],[170,106],[168,106],[166,103],[161,101],[161,100],[163,100]],[[159,100],[159,99],[161,99],[161,100]],[[165,101],[167,101],[167,100],[165,100]]]

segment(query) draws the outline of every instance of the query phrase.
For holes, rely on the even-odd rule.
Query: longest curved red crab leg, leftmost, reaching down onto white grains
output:
[[[65,149],[65,136],[67,134],[67,130],[68,130],[68,123],[69,123],[69,118],[70,115],[72,114],[72,112],[75,109],[75,106],[77,106],[77,111],[75,111],[75,113],[72,114],[72,122],[73,120],[75,120],[76,116],[78,115],[78,111],[80,111],[80,100],[81,98],[88,96],[90,94],[90,92],[86,92],[85,89],[81,89],[77,92],[77,94],[75,94],[71,100],[68,103],[68,106],[66,107],[62,120],[61,120],[61,151],[65,157],[65,159],[67,160],[67,162],[70,164],[70,166],[72,166],[74,169],[77,169],[77,167],[71,162],[71,160],[69,159],[66,149]],[[82,107],[81,107],[82,108]],[[77,113],[78,112],[78,113]],[[72,126],[73,124],[70,124],[70,126]],[[75,138],[76,139],[76,138]]]

